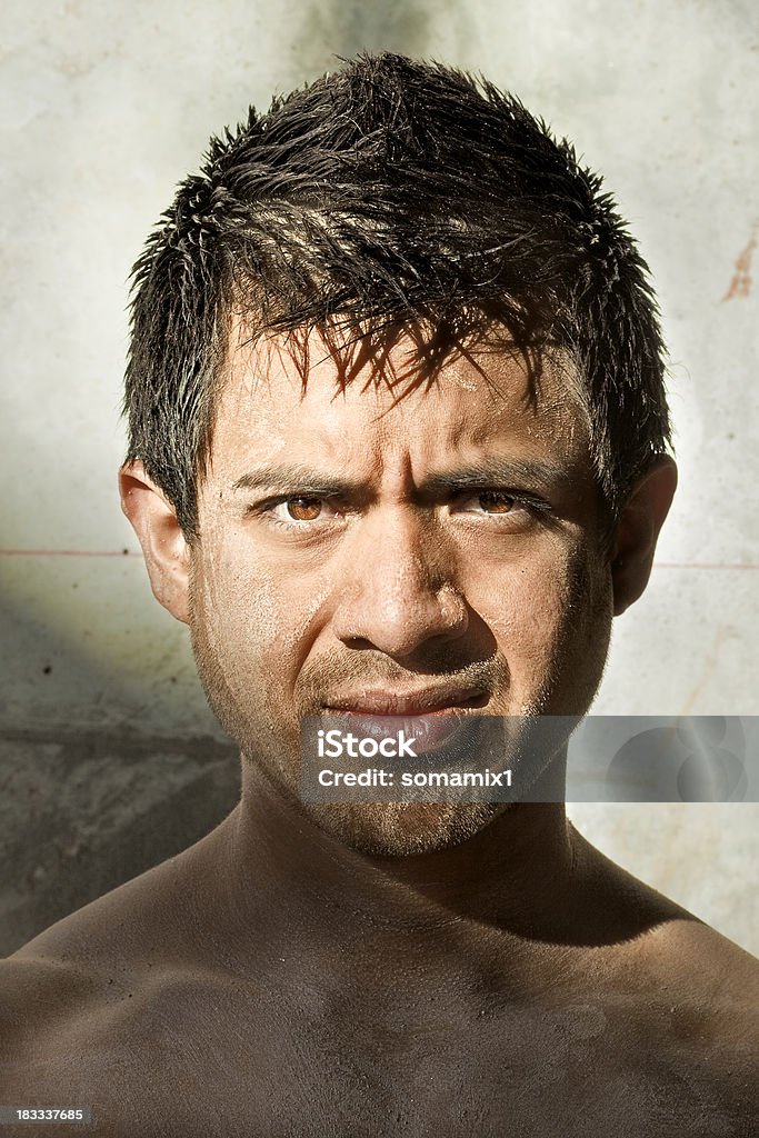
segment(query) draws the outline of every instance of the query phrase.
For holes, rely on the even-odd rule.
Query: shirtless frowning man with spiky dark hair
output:
[[[362,57],[213,143],[135,267],[121,488],[242,797],[5,963],[2,1102],[750,1132],[756,963],[567,823],[566,739],[545,801],[299,793],[310,716],[587,710],[675,490],[662,371],[600,180],[490,86]]]

